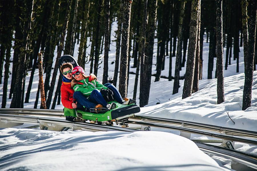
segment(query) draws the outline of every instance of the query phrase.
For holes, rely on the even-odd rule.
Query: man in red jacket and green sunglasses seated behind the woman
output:
[[[83,100],[83,104],[81,102],[73,103],[73,98],[77,99],[80,97],[84,97],[81,92],[74,92],[73,88],[71,88],[71,80],[73,79],[72,73],[73,66],[70,63],[64,63],[60,70],[63,74],[63,82],[61,85],[61,102],[65,108],[74,109],[84,109],[83,106],[89,108],[89,106],[101,107],[100,104],[94,104],[87,99]],[[73,119],[72,119],[73,120]]]

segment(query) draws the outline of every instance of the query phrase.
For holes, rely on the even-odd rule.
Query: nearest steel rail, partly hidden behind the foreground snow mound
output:
[[[97,131],[127,131],[127,132],[138,131],[138,130],[122,128],[122,127],[97,125],[95,123],[80,123],[80,122],[78,123],[78,122],[70,122],[70,121],[56,119],[56,118],[42,118],[42,117],[35,117],[35,116],[0,114],[0,118],[1,118],[1,120],[4,119],[6,121],[11,121],[11,122],[21,122],[21,123],[46,122],[48,124],[54,124],[57,126],[71,127],[71,128],[72,127],[81,127],[81,128],[97,130]],[[239,163],[242,163],[251,168],[257,169],[257,156],[254,154],[244,153],[244,152],[240,152],[240,151],[236,151],[236,150],[226,149],[223,147],[217,147],[217,146],[203,144],[203,143],[196,143],[196,145],[204,153],[221,156],[223,158],[232,159],[236,162],[239,162]]]

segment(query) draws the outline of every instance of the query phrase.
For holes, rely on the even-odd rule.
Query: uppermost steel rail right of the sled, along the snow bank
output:
[[[191,121],[183,121],[183,120],[174,120],[174,119],[166,119],[166,118],[157,118],[151,116],[138,116],[136,115],[134,118],[130,118],[130,121],[145,121],[148,123],[158,123],[158,124],[171,124],[176,126],[183,126],[185,128],[193,128],[193,129],[202,129],[206,131],[224,133],[227,135],[234,135],[240,137],[248,137],[257,139],[257,132],[248,131],[242,129],[228,128],[228,127],[220,127],[215,125],[208,125],[204,123],[197,123]]]

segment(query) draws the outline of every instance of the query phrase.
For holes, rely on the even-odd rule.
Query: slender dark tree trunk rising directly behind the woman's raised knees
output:
[[[108,58],[109,58],[109,36],[110,36],[110,1],[105,0],[105,54],[104,54],[104,68],[103,68],[103,84],[108,83]]]

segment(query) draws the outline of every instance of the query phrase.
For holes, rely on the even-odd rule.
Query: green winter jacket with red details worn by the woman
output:
[[[75,79],[71,81],[71,87],[73,87],[74,91],[79,91],[85,96],[90,96],[91,92],[94,89],[100,90],[108,89],[106,86],[104,86],[102,83],[100,83],[97,79],[89,81],[91,77],[85,78],[81,81],[76,81]]]

